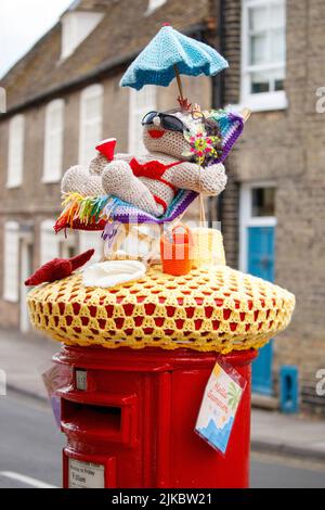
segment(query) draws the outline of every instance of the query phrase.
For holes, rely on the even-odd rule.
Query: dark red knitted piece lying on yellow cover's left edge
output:
[[[94,250],[88,250],[72,258],[53,258],[37,269],[31,277],[25,281],[26,286],[39,285],[44,282],[62,280],[72,275],[73,271],[83,266],[94,254]]]

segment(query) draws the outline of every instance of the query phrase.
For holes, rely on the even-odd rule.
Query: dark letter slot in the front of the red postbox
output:
[[[119,433],[121,408],[65,401],[64,422],[74,423],[80,430]]]

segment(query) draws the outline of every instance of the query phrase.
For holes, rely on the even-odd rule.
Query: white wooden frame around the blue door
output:
[[[272,180],[243,182],[239,192],[239,270],[248,270],[248,227],[276,227],[276,216],[252,216],[251,191],[255,188],[275,188]]]

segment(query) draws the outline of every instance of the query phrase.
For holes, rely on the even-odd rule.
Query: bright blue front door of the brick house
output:
[[[274,227],[248,227],[248,272],[274,281]],[[272,342],[260,349],[252,364],[252,391],[272,394]]]

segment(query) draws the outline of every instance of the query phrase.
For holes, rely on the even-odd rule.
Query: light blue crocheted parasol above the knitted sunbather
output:
[[[171,26],[162,26],[126,71],[120,86],[136,90],[145,85],[167,87],[174,77],[179,81],[180,74],[213,76],[226,67],[226,60],[210,46],[186,37]]]

